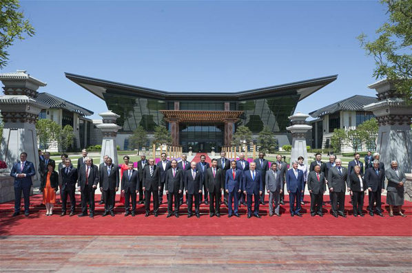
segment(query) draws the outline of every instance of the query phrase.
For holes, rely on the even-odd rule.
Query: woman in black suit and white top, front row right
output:
[[[353,173],[349,175],[349,186],[351,189],[351,195],[353,197],[353,216],[363,217],[363,200],[364,195],[367,193],[367,184],[365,183],[363,173],[360,172],[360,166],[353,167]]]

